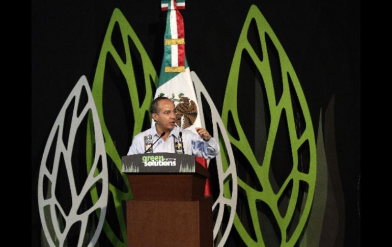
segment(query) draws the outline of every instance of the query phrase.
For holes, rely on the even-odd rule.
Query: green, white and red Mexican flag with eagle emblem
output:
[[[162,0],[162,11],[167,11],[164,34],[164,51],[155,97],[170,98],[178,111],[176,124],[195,133],[195,127],[202,127],[198,100],[194,91],[188,62],[185,58],[184,20],[179,9],[185,9],[185,0]],[[196,160],[206,169],[203,157]],[[206,181],[205,195],[211,195],[209,180]]]

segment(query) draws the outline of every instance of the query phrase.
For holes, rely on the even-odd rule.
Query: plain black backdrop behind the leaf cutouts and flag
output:
[[[114,8],[124,13],[159,73],[166,15],[159,4],[158,0],[32,2],[33,246],[40,243],[41,229],[38,172],[55,118],[81,75],[87,76],[91,86]],[[309,105],[315,132],[320,108],[324,111],[334,95],[335,140],[346,211],[344,245],[359,246],[359,2],[188,0],[181,11],[187,60],[219,112],[234,50],[251,4],[263,13],[288,54]],[[116,118],[115,114],[108,117]],[[126,152],[130,141],[131,136],[121,151]]]

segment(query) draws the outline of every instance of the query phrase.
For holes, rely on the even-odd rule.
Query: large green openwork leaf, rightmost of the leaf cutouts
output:
[[[261,47],[262,57],[258,56],[255,47],[248,40],[249,26],[252,21],[256,24],[256,32],[260,41],[257,46]],[[281,82],[276,81],[271,72],[272,57],[269,57],[267,37],[270,39],[269,47],[272,47],[277,54],[277,67],[280,69],[277,73],[282,80]],[[253,150],[251,148],[248,141],[249,136],[245,134],[246,131],[240,122],[239,113],[243,109],[239,109],[238,105],[242,106],[243,104],[237,104],[238,91],[243,84],[254,83],[255,81],[255,79],[253,81],[240,80],[239,74],[243,56],[247,56],[247,64],[253,63],[255,73],[259,73],[261,76],[262,83],[260,84],[265,88],[264,97],[267,99],[266,108],[269,111],[267,122],[269,129],[267,130],[267,135],[265,135],[267,136],[265,150]],[[281,95],[277,93],[278,88],[282,89]],[[294,115],[293,102],[300,109],[298,112],[301,112],[299,116],[302,119],[301,128],[303,130],[296,124],[298,121],[296,121]],[[256,105],[256,107],[263,106]],[[294,246],[303,232],[314,197],[316,181],[315,134],[309,108],[293,66],[267,20],[255,5],[250,7],[244,22],[234,53],[223,101],[222,121],[225,123],[226,128],[228,128],[231,119],[234,124],[231,125],[232,131],[228,131],[230,142],[237,149],[238,153],[244,157],[245,162],[249,164],[241,164],[241,166],[248,166],[249,170],[255,175],[257,183],[261,185],[261,189],[257,189],[238,177],[238,185],[246,194],[246,203],[249,205],[250,231],[254,232],[254,237],[245,229],[238,213],[236,213],[234,219],[234,226],[245,244],[266,245],[264,240],[267,238],[263,237],[263,234],[268,233],[262,231],[262,229],[265,229],[265,225],[263,226],[265,221],[260,220],[260,211],[258,210],[258,206],[262,205],[263,208],[268,208],[268,217],[271,225],[276,225],[276,230],[270,227],[269,231],[273,231],[277,235],[276,238],[279,242],[275,244]],[[241,121],[246,120],[246,118],[241,119]],[[281,126],[281,123],[283,123],[283,128],[278,128]],[[278,132],[279,129],[284,131]],[[236,134],[233,134],[233,132]],[[291,164],[289,165],[273,163],[274,160],[272,158],[275,156],[272,154],[279,148],[279,144],[276,142],[277,134],[285,136],[289,140],[288,152],[281,155],[291,158]],[[256,138],[260,139],[261,136],[256,136]],[[302,149],[306,149],[309,153],[309,162],[305,166],[302,166],[302,161],[299,160],[300,155],[298,155]],[[264,152],[260,162],[256,157],[258,152]],[[306,169],[303,169],[303,167]],[[271,169],[284,173],[277,186],[276,182],[271,179]],[[287,202],[284,210],[280,207],[282,201]]]

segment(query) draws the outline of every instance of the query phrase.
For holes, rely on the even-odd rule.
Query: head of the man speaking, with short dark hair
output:
[[[171,131],[176,126],[176,107],[169,98],[154,99],[150,111],[158,131]]]

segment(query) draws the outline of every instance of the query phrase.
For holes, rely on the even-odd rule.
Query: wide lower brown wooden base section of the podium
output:
[[[127,201],[127,245],[212,247],[211,208],[211,196],[194,201]]]

